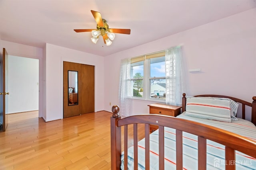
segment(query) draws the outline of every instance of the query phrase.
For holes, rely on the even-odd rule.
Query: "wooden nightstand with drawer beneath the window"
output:
[[[168,116],[178,116],[180,114],[181,106],[172,106],[166,104],[150,104],[149,106],[149,113],[150,114],[159,114],[159,115],[168,115]],[[155,131],[158,129],[158,125],[150,125],[150,132]]]

